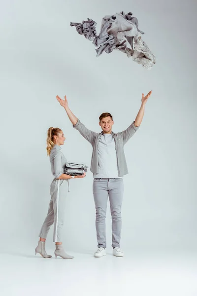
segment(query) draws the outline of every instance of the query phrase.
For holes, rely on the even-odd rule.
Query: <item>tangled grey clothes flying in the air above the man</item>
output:
[[[96,46],[97,56],[104,51],[111,53],[114,49],[120,50],[132,57],[132,60],[150,70],[156,63],[156,58],[141,39],[144,32],[138,29],[138,20],[132,16],[132,12],[124,11],[114,15],[106,15],[102,18],[100,33],[97,36],[97,23],[92,19],[81,23],[72,23],[80,35],[93,41]],[[141,35],[140,35],[141,34]]]

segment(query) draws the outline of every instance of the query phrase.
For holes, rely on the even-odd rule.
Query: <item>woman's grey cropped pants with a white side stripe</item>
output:
[[[54,179],[52,181],[48,214],[40,230],[39,237],[46,238],[49,228],[54,222],[53,241],[62,242],[61,232],[64,225],[67,192],[67,180]]]

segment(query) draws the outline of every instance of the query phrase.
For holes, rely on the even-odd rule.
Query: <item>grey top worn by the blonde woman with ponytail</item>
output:
[[[66,162],[67,159],[62,153],[61,147],[55,145],[50,153],[51,172],[55,178],[59,178],[64,173]]]

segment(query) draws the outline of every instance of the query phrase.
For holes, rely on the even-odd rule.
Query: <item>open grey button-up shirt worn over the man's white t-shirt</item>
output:
[[[77,123],[73,127],[80,132],[80,134],[91,143],[93,147],[92,160],[90,170],[94,174],[99,173],[98,165],[98,143],[99,137],[102,133],[96,133],[89,130],[80,120],[77,120]],[[134,135],[138,130],[139,126],[136,127],[134,122],[124,131],[115,134],[112,132],[112,137],[115,140],[115,148],[117,152],[117,166],[118,166],[118,177],[122,177],[128,174],[127,162],[124,153],[124,146],[129,141],[129,139]]]

